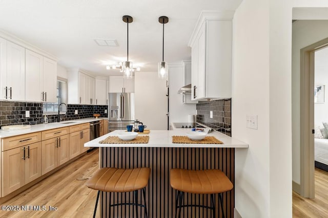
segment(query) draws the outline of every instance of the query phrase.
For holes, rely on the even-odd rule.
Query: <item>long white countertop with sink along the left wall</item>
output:
[[[11,136],[16,136],[16,135],[23,135],[23,134],[33,133],[33,132],[40,132],[40,131],[56,129],[56,128],[61,128],[61,127],[68,127],[68,126],[74,126],[74,125],[78,125],[78,124],[90,123],[90,122],[93,122],[96,120],[101,120],[101,119],[108,120],[107,117],[98,117],[98,118],[90,117],[90,118],[83,118],[83,119],[71,119],[71,120],[66,120],[66,121],[62,121],[59,123],[31,125],[30,129],[24,129],[24,130],[0,130],[0,138],[6,138],[6,137],[11,137]],[[74,122],[74,123],[69,123],[69,122]]]

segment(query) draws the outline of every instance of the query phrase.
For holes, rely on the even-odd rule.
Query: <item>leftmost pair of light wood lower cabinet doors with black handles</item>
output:
[[[41,142],[2,152],[2,197],[41,176]]]

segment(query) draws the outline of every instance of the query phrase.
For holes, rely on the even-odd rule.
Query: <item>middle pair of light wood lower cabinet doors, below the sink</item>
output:
[[[42,141],[42,175],[69,160],[69,134]]]

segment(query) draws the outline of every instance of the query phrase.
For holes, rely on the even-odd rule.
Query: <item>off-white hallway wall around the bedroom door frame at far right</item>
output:
[[[298,20],[292,38],[293,181],[300,184],[300,50],[328,37],[328,20]],[[327,84],[328,85],[328,84]],[[316,113],[315,113],[316,114]],[[327,119],[328,120],[328,119]],[[316,122],[315,122],[316,123]]]

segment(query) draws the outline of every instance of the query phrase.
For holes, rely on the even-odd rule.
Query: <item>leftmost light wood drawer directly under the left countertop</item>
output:
[[[38,141],[41,141],[41,132],[3,138],[1,139],[2,151],[18,148],[20,146],[25,146],[26,144],[32,144]]]

